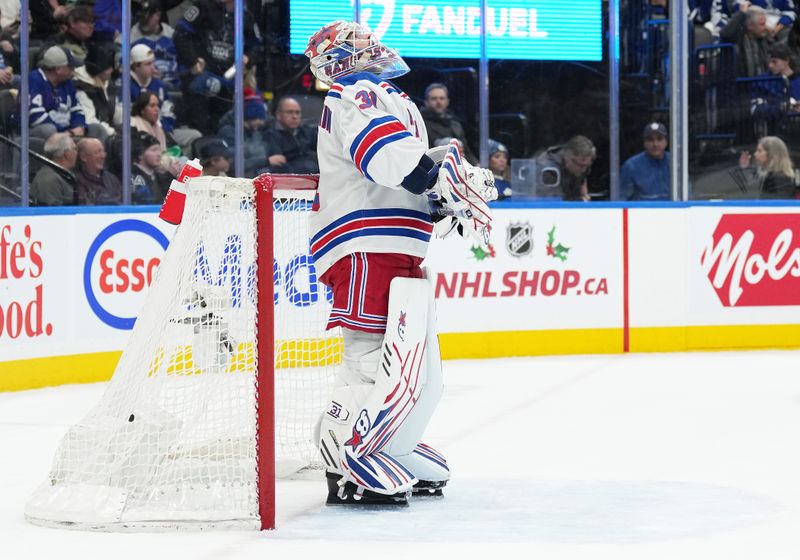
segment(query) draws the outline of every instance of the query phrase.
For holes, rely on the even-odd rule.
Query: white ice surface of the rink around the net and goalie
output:
[[[268,533],[26,523],[58,442],[104,386],[0,393],[0,557],[796,559],[798,365],[800,351],[445,362],[426,437],[453,470],[443,500],[325,507],[321,479],[280,481]]]

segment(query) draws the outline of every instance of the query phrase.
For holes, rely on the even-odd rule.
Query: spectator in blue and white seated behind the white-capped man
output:
[[[161,5],[158,0],[145,0],[140,4],[139,16],[131,29],[131,45],[145,45],[155,55],[156,78],[170,89],[180,89],[178,51],[172,35],[175,30],[161,21]]]

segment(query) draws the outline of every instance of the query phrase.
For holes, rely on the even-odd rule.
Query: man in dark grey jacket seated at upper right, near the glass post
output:
[[[733,15],[719,37],[736,45],[740,77],[752,78],[767,71],[772,37],[767,29],[767,12],[758,6],[749,6]]]

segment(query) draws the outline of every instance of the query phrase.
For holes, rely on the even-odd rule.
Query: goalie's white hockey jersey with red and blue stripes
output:
[[[424,195],[400,182],[428,147],[414,102],[360,72],[331,86],[319,125],[320,179],[311,214],[311,254],[322,275],[355,252],[425,257],[433,231]]]

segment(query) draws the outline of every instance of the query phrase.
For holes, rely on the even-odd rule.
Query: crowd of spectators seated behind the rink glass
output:
[[[684,1],[695,44],[732,45],[738,76],[755,79],[750,111],[756,122],[766,124],[758,129],[755,156],[743,153],[735,166],[737,184],[753,196],[795,196],[786,180],[767,180],[776,173],[789,177],[788,169],[794,169],[791,150],[785,143],[781,148],[781,138],[771,134],[771,125],[786,113],[800,114],[800,75],[795,71],[800,24],[794,2]],[[666,9],[668,0],[649,3]],[[131,131],[134,204],[160,203],[187,159],[199,159],[208,175],[232,173],[234,0],[131,0],[131,6],[130,67],[122,69],[118,0],[31,0],[32,69],[23,73],[19,2],[0,2],[0,92],[17,92],[21,80],[28,80],[30,109],[24,117],[15,115],[16,124],[28,118],[31,148],[55,164],[39,166],[31,182],[33,204],[121,204],[123,127]],[[312,120],[317,115],[303,114],[300,95],[273,100],[259,91],[256,71],[267,55],[255,18],[246,9],[244,15],[244,174],[317,173],[317,123]],[[123,71],[131,86],[126,123]],[[450,95],[441,82],[420,92],[430,146],[455,139],[465,159],[477,164],[477,150],[469,141],[474,131],[452,112]],[[667,128],[658,118],[650,120],[642,151],[622,165],[623,199],[671,198]],[[507,145],[490,139],[488,155],[501,199],[515,196],[512,157],[533,165],[534,192],[517,195],[592,199],[591,172],[598,154],[585,135],[572,134],[527,154],[512,154]],[[790,182],[796,189],[794,173]]]

